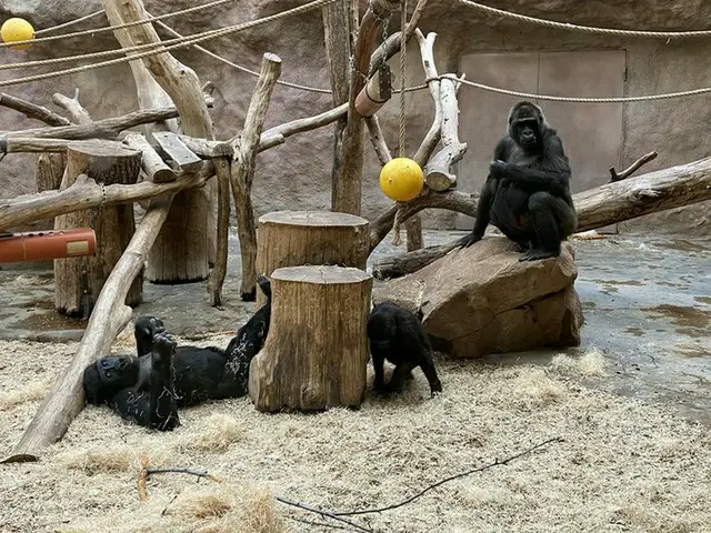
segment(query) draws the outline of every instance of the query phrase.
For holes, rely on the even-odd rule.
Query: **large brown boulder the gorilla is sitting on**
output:
[[[420,314],[425,331],[457,358],[579,345],[572,244],[543,261],[520,262],[520,255],[508,239],[487,238],[382,284],[373,300]]]

